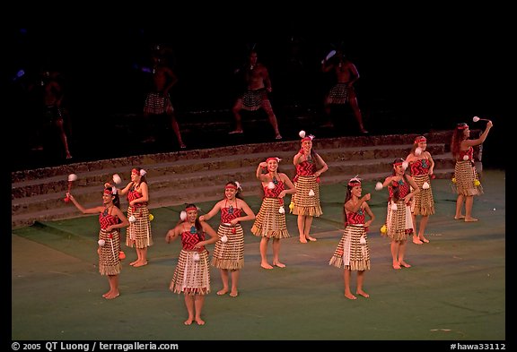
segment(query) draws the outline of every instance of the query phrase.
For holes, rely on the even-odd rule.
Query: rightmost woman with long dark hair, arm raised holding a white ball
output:
[[[472,204],[474,203],[474,195],[482,194],[483,188],[479,184],[472,147],[485,142],[492,125],[492,121],[488,121],[485,132],[481,133],[476,140],[469,140],[469,124],[458,124],[454,133],[452,133],[451,152],[452,157],[456,160],[454,179],[458,193],[454,219],[465,219],[467,222],[478,221],[478,219],[472,218]],[[462,215],[463,202],[465,202],[465,215]]]

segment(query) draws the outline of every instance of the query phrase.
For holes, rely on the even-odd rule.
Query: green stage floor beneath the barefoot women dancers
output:
[[[260,268],[259,238],[245,228],[245,267],[240,295],[217,296],[222,287],[212,268],[206,325],[185,326],[183,296],[169,290],[180,241],[164,236],[182,207],[153,209],[154,245],[149,264],[128,265],[120,274],[121,295],[106,300],[108,279],[97,269],[97,217],[38,223],[12,231],[13,340],[497,340],[505,325],[505,173],[485,170],[485,194],[474,201],[476,223],[454,220],[449,180],[434,180],[436,213],[429,244],[407,244],[410,269],[393,270],[390,243],[380,236],[387,190],[374,182],[364,193],[376,215],[369,233],[372,270],[365,274],[370,298],[344,296],[343,270],[329,266],[341,236],[344,185],[322,185],[323,216],[315,219],[317,242],[298,241],[296,217],[287,214],[291,238],[282,241],[285,269]],[[244,193],[245,196],[245,193]],[[259,197],[245,197],[259,210]],[[192,202],[197,202],[193,199]],[[101,200],[100,200],[101,202]],[[204,211],[215,202],[197,202]],[[214,221],[212,221],[214,220]],[[210,223],[214,228],[217,219]],[[213,253],[214,246],[208,247]],[[272,257],[271,247],[268,249]],[[355,283],[355,273],[353,273]],[[352,287],[355,290],[355,285]]]

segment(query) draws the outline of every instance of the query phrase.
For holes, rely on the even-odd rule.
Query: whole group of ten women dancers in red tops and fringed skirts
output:
[[[452,182],[458,194],[454,219],[477,221],[471,214],[473,196],[482,194],[483,190],[474,165],[473,147],[485,142],[492,125],[488,121],[486,130],[475,140],[469,139],[468,124],[458,124],[454,130],[451,152],[456,160],[456,167]],[[299,240],[302,244],[317,241],[316,237],[311,236],[311,224],[314,217],[320,217],[323,213],[320,206],[320,176],[329,167],[312,148],[314,136],[306,136],[303,131],[300,136],[301,149],[293,159],[296,168],[293,180],[278,171],[281,159],[272,157],[259,163],[256,176],[262,185],[264,196],[256,215],[241,198],[241,185],[230,181],[224,185],[223,199],[216,202],[212,210],[199,215],[194,203],[187,204],[185,210],[181,211],[178,225],[167,232],[167,243],[181,238],[181,251],[170,289],[185,296],[188,310],[188,319],[184,322],[186,325],[192,322],[199,325],[205,323],[201,319],[201,312],[204,297],[210,292],[210,265],[221,272],[223,288],[217,291],[217,295],[228,293],[232,297],[239,296],[239,273],[244,266],[242,221],[254,220],[251,233],[261,238],[260,266],[265,270],[285,268],[285,263],[280,261],[280,240],[290,236],[285,222],[286,211],[297,216]],[[425,228],[429,216],[434,214],[431,186],[434,160],[426,147],[425,136],[417,136],[406,159],[395,159],[391,175],[375,186],[377,191],[387,188],[389,193],[387,216],[381,227],[381,235],[390,238],[394,270],[411,267],[405,260],[407,239],[410,236],[416,245],[429,243],[429,239],[425,237]],[[123,189],[117,189],[110,183],[104,186],[102,205],[92,209],[83,208],[71,193],[66,193],[66,196],[83,213],[100,214],[99,268],[101,275],[107,275],[110,282],[110,290],[103,297],[113,299],[119,296],[118,274],[121,269],[120,261],[124,257],[124,253],[120,251],[120,229],[127,228],[126,245],[136,248],[137,259],[130,265],[144,266],[147,264],[147,247],[153,245],[150,226],[152,215],[147,208],[149,190],[145,169],[133,168],[131,182]],[[120,210],[119,194],[127,194],[127,217]],[[288,210],[285,209],[286,194],[292,195]],[[367,234],[375,215],[368,205],[370,199],[370,193],[363,194],[359,176],[348,181],[343,206],[345,230],[329,259],[329,265],[344,269],[345,296],[351,300],[357,298],[355,295],[369,297],[363,285],[364,272],[371,269]],[[463,205],[465,215],[462,211]],[[207,221],[218,213],[221,221],[215,231]],[[421,217],[419,223],[416,219],[418,216]],[[267,260],[269,240],[272,240],[272,264]],[[206,245],[211,244],[215,244],[215,250],[210,259]],[[355,295],[350,289],[351,271],[357,272]]]

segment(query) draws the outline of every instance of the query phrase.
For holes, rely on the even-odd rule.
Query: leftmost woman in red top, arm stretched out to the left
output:
[[[110,291],[102,295],[106,299],[113,299],[120,296],[118,291],[118,274],[120,265],[120,228],[127,228],[129,221],[120,210],[120,201],[116,188],[106,188],[102,193],[102,205],[95,208],[85,209],[77,202],[74,196],[66,193],[66,198],[72,201],[78,210],[83,214],[99,214],[101,231],[99,232],[99,272],[108,276]]]

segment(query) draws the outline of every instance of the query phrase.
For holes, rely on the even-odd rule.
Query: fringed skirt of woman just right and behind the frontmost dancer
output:
[[[239,270],[244,267],[244,231],[241,224],[233,227],[230,224],[221,224],[217,229],[219,241],[215,242],[212,265],[219,269]],[[221,238],[226,236],[226,243]]]

